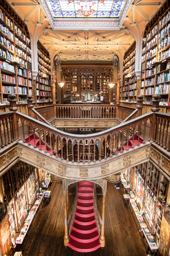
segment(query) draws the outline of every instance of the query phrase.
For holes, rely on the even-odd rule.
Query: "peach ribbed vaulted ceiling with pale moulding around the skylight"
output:
[[[127,0],[120,18],[53,18],[46,0],[8,0],[26,22],[32,41],[40,40],[63,60],[111,60],[142,37],[163,0]]]

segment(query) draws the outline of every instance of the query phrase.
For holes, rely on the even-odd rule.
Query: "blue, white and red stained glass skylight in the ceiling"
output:
[[[126,0],[46,0],[54,18],[119,18]]]

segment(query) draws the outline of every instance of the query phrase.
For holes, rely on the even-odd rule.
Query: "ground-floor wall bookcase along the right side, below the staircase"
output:
[[[159,240],[164,209],[162,202],[166,194],[167,179],[150,162],[136,166],[134,172],[136,177],[134,177],[133,192],[136,204],[143,212],[142,217],[148,229]]]

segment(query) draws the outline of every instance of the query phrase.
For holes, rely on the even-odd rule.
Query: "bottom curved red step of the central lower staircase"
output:
[[[78,243],[73,238],[70,238],[70,241],[68,242],[68,246],[77,252],[93,252],[98,248],[100,248],[101,244],[98,238],[95,241],[90,243],[81,243],[81,242]]]

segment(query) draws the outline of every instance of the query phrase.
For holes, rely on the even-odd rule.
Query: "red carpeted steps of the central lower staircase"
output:
[[[68,246],[78,252],[93,252],[101,246],[94,214],[92,182],[78,182],[77,209]]]

